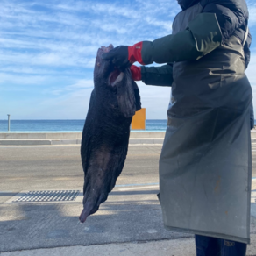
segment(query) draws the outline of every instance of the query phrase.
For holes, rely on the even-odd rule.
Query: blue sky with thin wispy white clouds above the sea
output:
[[[247,4],[256,97],[256,4]],[[174,0],[1,0],[0,119],[85,118],[98,47],[170,34],[179,11]],[[138,84],[146,118],[166,119],[170,88]]]

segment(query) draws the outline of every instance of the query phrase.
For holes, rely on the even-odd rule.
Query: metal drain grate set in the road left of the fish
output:
[[[74,201],[79,190],[29,191],[12,202],[60,202]]]

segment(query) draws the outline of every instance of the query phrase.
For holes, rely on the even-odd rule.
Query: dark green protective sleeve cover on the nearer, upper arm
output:
[[[153,42],[143,41],[141,57],[145,65],[198,60],[220,46],[221,41],[222,34],[216,15],[201,13],[189,22],[184,31]]]

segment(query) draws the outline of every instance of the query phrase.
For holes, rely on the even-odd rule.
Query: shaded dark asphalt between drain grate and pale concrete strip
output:
[[[143,192],[143,193],[141,193]],[[114,195],[156,194],[156,191],[114,191]],[[0,204],[0,252],[68,245],[100,245],[183,238],[163,228],[158,200],[109,201],[84,224],[82,203]],[[134,196],[133,196],[134,197]],[[141,197],[141,196],[139,196]]]

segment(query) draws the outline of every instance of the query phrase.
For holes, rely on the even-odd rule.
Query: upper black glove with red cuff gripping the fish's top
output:
[[[130,67],[135,61],[144,64],[141,58],[142,42],[134,46],[117,46],[109,53],[102,55],[103,60],[111,60],[119,69]]]

